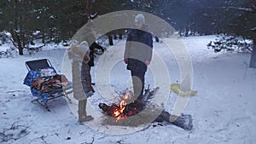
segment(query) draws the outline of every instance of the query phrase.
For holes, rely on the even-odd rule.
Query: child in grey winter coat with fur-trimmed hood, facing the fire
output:
[[[87,98],[93,95],[95,90],[91,86],[90,60],[88,44],[83,41],[79,45],[72,44],[68,49],[68,58],[73,60],[73,97],[79,101],[79,122],[90,121],[92,116],[87,115]]]

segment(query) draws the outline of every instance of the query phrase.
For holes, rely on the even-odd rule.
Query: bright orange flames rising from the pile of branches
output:
[[[122,118],[126,118],[126,116],[122,116],[122,113],[124,112],[125,106],[127,105],[126,101],[129,99],[130,96],[130,92],[127,91],[126,94],[122,96],[122,101],[120,101],[118,108],[113,111],[113,117],[116,117],[116,121]]]

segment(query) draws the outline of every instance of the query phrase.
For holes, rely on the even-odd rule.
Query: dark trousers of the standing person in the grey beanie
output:
[[[133,85],[134,99],[142,100],[145,82],[145,72],[131,71],[131,79]]]

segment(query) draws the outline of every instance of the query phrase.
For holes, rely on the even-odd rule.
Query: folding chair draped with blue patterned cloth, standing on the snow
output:
[[[65,86],[61,86],[60,84],[50,84],[46,85],[49,86],[50,90],[42,92],[42,89],[36,89],[33,85],[35,80],[40,78],[48,78],[44,81],[50,80],[50,78],[55,78],[58,76],[55,68],[51,65],[48,59],[41,59],[41,60],[29,60],[26,61],[26,68],[28,73],[26,74],[26,78],[24,79],[25,85],[29,86],[32,92],[32,95],[36,98],[32,100],[32,102],[38,102],[39,104],[43,105],[48,111],[49,107],[47,102],[49,100],[54,100],[55,98],[59,98],[64,96],[67,98],[69,102],[71,99],[68,97],[67,94],[73,91],[72,83],[67,81]]]

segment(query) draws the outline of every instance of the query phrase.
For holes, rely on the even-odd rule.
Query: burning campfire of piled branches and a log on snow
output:
[[[154,107],[150,107],[149,101],[154,97],[154,94],[159,88],[150,91],[145,89],[142,101],[132,100],[132,93],[127,90],[124,94],[120,95],[118,103],[107,105],[100,103],[99,107],[103,113],[107,115],[104,121],[106,124],[122,125],[122,126],[138,126],[140,124],[148,124],[152,122],[167,122],[174,124],[184,130],[191,130],[193,127],[192,117],[188,114],[175,116]]]

